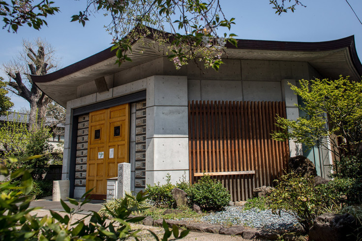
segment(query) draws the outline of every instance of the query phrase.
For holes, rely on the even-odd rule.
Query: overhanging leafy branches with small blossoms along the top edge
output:
[[[12,4],[0,1],[4,28],[16,32],[19,26],[28,24],[39,29],[47,25],[44,19],[48,15],[60,10],[54,4],[48,0],[38,3],[14,0]],[[299,0],[270,0],[270,4],[278,14],[303,6]],[[219,34],[222,31],[218,29],[230,31],[235,24],[234,18],[227,18],[223,13],[220,0],[88,0],[85,10],[73,15],[71,21],[85,26],[94,12],[112,18],[107,31],[113,36],[119,64],[131,60],[127,55],[132,52],[132,43],[145,35],[153,36],[154,41],[148,44],[166,52],[177,68],[189,60],[198,63],[196,59],[200,58],[206,67],[218,70],[226,42],[237,45],[235,34]],[[172,35],[164,32],[166,27]]]

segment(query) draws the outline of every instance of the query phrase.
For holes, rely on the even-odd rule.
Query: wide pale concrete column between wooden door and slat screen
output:
[[[146,184],[188,177],[187,77],[147,78]]]

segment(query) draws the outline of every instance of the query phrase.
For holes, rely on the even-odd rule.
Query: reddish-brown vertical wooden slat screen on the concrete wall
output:
[[[272,185],[289,158],[288,142],[271,139],[285,102],[189,101],[190,180],[209,173],[229,189],[233,201]]]

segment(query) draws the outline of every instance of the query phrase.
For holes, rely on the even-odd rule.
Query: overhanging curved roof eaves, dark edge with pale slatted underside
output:
[[[152,41],[147,36],[145,41]],[[322,76],[337,79],[340,74],[360,80],[362,64],[358,58],[354,36],[326,42],[284,42],[265,40],[238,40],[238,48],[226,44],[227,58],[242,60],[305,61]],[[32,81],[60,105],[77,98],[77,87],[96,78],[107,76],[142,63],[166,56],[156,44],[147,46],[135,41],[132,53],[118,66],[111,47],[53,73],[31,76]]]

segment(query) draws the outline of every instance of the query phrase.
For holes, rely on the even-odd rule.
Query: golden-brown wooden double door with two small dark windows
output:
[[[86,190],[104,199],[107,179],[117,177],[118,163],[129,160],[129,104],[91,112],[89,120]]]

